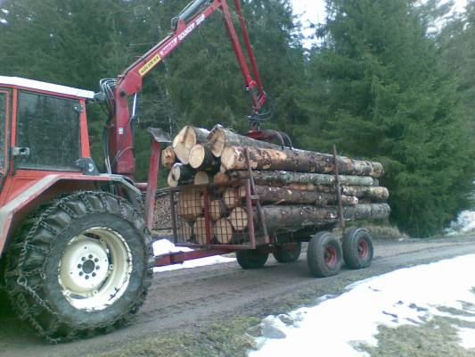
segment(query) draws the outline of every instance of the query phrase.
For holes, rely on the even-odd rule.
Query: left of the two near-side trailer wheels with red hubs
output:
[[[317,278],[338,274],[343,263],[340,242],[330,232],[319,232],[308,242],[308,269]]]

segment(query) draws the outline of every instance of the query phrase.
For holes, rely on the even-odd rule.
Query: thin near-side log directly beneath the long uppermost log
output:
[[[248,171],[231,172],[232,179],[248,178]],[[308,172],[289,172],[289,171],[253,171],[252,177],[257,185],[262,186],[288,186],[292,183],[308,185],[334,185],[335,177],[333,175],[324,175],[320,173]],[[367,176],[348,176],[340,175],[341,185],[353,186],[378,186],[378,179]]]

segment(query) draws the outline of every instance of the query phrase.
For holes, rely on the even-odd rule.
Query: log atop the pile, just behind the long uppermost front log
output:
[[[244,137],[233,132],[233,130],[223,128],[223,126],[219,124],[215,125],[215,127],[209,132],[208,142],[211,153],[216,157],[221,156],[225,146],[255,146],[276,150],[281,148],[279,145],[270,144],[266,141],[259,141],[250,137]]]

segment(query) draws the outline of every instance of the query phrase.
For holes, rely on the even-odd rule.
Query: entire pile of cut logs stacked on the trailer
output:
[[[381,163],[283,148],[219,125],[210,131],[184,127],[163,151],[162,164],[170,187],[187,186],[176,197],[184,242],[239,244],[249,239],[251,222],[261,233],[256,205],[249,212],[246,204],[248,164],[270,234],[329,225],[340,214],[343,220],[389,216],[389,192],[378,180]]]

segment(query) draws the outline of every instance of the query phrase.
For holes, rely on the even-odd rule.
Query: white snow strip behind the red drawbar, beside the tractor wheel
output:
[[[192,251],[191,248],[187,248],[184,246],[175,246],[167,239],[160,239],[153,243],[153,253],[155,255],[160,254],[167,254],[167,253],[175,253],[175,252],[190,252]],[[222,262],[234,262],[234,258],[226,258],[221,255],[215,255],[211,257],[201,258],[201,259],[194,259],[192,261],[183,262],[182,264],[174,264],[174,265],[167,265],[165,267],[160,268],[153,268],[153,271],[168,271],[168,270],[177,270],[177,269],[184,269],[184,268],[195,268],[195,267],[203,267],[205,265],[212,265],[218,264]]]

